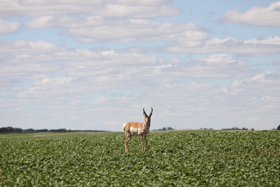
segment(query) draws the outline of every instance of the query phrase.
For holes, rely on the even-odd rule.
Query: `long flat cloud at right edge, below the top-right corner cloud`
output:
[[[160,51],[168,53],[236,53],[266,56],[280,53],[280,38],[277,36],[240,40],[213,38],[206,41],[176,42],[162,46]]]

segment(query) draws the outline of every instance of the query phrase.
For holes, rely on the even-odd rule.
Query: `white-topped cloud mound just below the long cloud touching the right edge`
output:
[[[153,75],[157,77],[168,77],[169,82],[174,81],[176,78],[216,80],[251,75],[244,61],[227,54],[213,54],[153,68],[155,69]]]

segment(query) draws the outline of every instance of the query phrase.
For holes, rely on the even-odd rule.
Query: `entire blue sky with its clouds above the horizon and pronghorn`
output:
[[[0,127],[272,129],[280,1],[0,1]]]

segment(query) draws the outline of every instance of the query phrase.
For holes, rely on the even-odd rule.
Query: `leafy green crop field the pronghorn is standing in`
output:
[[[139,137],[125,153],[123,132],[14,136],[0,186],[280,186],[280,131],[199,132],[151,133],[146,153]]]

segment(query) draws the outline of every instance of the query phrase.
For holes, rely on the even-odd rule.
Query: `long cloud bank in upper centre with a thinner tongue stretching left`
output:
[[[25,23],[30,29],[63,27],[60,34],[74,37],[79,42],[146,42],[146,41],[201,41],[208,38],[204,28],[195,22],[174,24],[143,19],[111,20],[102,16],[43,16]]]

